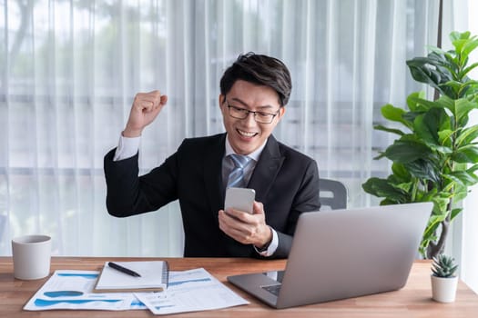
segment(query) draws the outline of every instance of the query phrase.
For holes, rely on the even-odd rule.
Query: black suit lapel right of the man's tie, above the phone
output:
[[[283,161],[284,157],[280,154],[279,143],[270,135],[248,184],[249,188],[256,190],[256,201],[264,202]]]

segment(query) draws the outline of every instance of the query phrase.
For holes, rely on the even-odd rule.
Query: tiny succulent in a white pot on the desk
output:
[[[454,258],[445,254],[438,254],[432,261],[432,298],[440,303],[454,302],[458,276],[458,265]]]

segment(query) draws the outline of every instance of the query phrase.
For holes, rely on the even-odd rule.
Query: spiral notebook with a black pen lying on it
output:
[[[115,262],[140,274],[140,277],[122,273],[108,263],[99,274],[94,293],[162,292],[168,287],[167,261]]]

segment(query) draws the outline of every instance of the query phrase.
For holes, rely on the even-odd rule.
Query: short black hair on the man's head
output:
[[[220,94],[226,96],[237,80],[253,84],[266,85],[279,94],[280,106],[289,102],[292,82],[290,72],[279,59],[268,55],[256,55],[249,52],[239,55],[220,79]]]

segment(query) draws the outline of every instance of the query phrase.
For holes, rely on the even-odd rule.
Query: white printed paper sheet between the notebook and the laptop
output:
[[[152,313],[187,313],[248,304],[204,268],[169,272],[166,293],[135,293]]]

